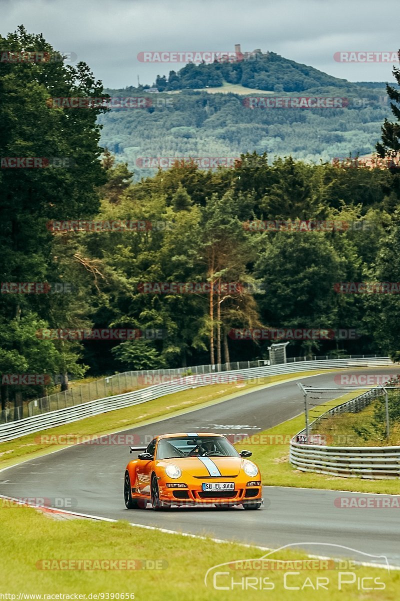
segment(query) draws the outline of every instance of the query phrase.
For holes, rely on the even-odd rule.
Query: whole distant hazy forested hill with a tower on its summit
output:
[[[390,116],[383,82],[352,83],[275,52],[233,62],[189,63],[168,77],[157,76],[152,93],[148,89],[146,84],[104,90],[112,97],[148,100],[139,109],[113,108],[99,120],[101,145],[116,154],[117,162],[128,163],[135,180],[154,174],[160,157],[166,164],[173,157],[223,161],[255,150],[319,163],[369,154]],[[250,110],[247,96],[339,98],[343,108]],[[151,168],[149,159],[155,159]]]

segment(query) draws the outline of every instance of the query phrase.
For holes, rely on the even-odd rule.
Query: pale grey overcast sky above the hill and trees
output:
[[[340,63],[340,51],[400,47],[398,0],[0,0],[0,33],[23,24],[74,52],[104,87],[152,84],[183,64],[141,63],[157,50],[272,50],[350,81],[393,81],[392,63]]]

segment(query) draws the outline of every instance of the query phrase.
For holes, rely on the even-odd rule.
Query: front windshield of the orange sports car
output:
[[[172,457],[240,457],[240,455],[223,436],[161,438],[157,445],[157,459],[172,459]]]

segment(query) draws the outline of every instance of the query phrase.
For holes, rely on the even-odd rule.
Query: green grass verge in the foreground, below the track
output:
[[[243,513],[235,514],[240,519]],[[134,519],[134,512],[131,512]],[[249,516],[246,516],[249,517]],[[262,519],[261,512],[254,512],[252,519]],[[356,576],[356,582],[338,590],[339,571],[302,570],[298,576],[290,576],[290,586],[302,587],[306,578],[315,582],[317,577],[329,578],[328,590],[312,590],[308,584],[304,590],[285,590],[284,570],[230,570],[230,579],[241,581],[244,577],[269,578],[274,590],[219,591],[212,587],[212,579],[206,588],[204,576],[207,570],[225,562],[260,558],[266,554],[256,548],[245,548],[239,543],[215,543],[183,535],[167,534],[155,530],[130,526],[127,522],[107,523],[92,520],[55,520],[38,510],[28,507],[0,509],[2,540],[0,549],[0,593],[5,594],[86,594],[133,593],[136,601],[252,601],[273,599],[291,601],[395,601],[398,599],[400,572],[359,567],[345,569]],[[234,528],[234,525],[233,525]],[[361,549],[360,549],[361,551]],[[294,560],[306,558],[305,554],[279,551],[273,559]],[[161,570],[41,570],[38,561],[43,560],[161,560]],[[293,571],[293,569],[288,569]],[[357,578],[378,578],[384,590],[360,591]],[[220,577],[221,578],[221,577]],[[219,579],[217,584],[226,582]],[[371,580],[366,586],[371,587]]]

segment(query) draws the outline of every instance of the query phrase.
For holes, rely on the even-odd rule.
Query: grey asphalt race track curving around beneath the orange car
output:
[[[302,412],[303,397],[296,382],[335,386],[333,376],[336,373],[393,374],[399,371],[399,367],[369,368],[300,377],[149,426],[130,429],[124,434],[209,430],[251,435]],[[343,393],[338,391],[338,396],[340,394]],[[109,415],[112,429],[112,413]],[[230,427],[226,429],[225,426]],[[74,424],[71,424],[71,433],[74,433]],[[73,510],[78,513],[254,543],[265,548],[295,543],[315,555],[354,557],[381,563],[355,551],[311,543],[341,545],[364,554],[384,555],[390,564],[400,566],[399,508],[344,509],[336,507],[334,499],[353,493],[264,486],[264,507],[258,511],[245,511],[242,507],[228,511],[181,507],[155,512],[150,505],[147,510],[127,510],[123,478],[126,464],[134,457],[136,455],[130,455],[127,446],[117,444],[67,447],[0,472],[0,494],[13,498],[71,498]]]

